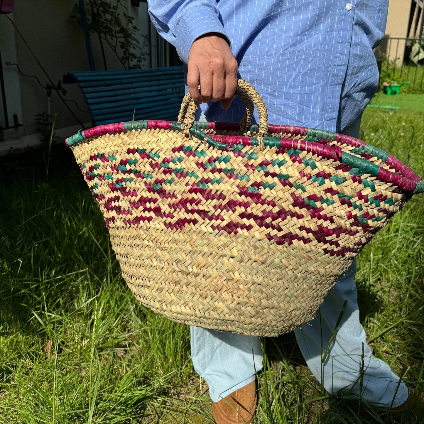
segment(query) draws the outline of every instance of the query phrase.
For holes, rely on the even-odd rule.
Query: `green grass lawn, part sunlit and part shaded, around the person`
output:
[[[385,95],[375,99],[392,101]],[[366,109],[360,137],[424,176],[424,96]],[[393,100],[393,101],[395,101]],[[126,287],[70,151],[0,162],[0,423],[212,422],[192,370],[188,327],[141,307]],[[360,254],[361,320],[374,354],[424,391],[424,195]],[[293,334],[264,340],[258,424],[391,423],[326,393]],[[272,387],[275,390],[272,390]],[[268,396],[268,393],[270,395]],[[399,422],[421,422],[412,414]]]

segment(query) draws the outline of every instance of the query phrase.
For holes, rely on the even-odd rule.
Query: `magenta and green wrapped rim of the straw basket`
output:
[[[373,145],[365,143],[360,139],[346,136],[344,134],[338,134],[331,131],[318,130],[315,128],[307,128],[301,126],[289,126],[289,125],[269,125],[269,131],[273,133],[282,133],[294,135],[294,137],[300,135],[306,136],[304,140],[298,140],[295,138],[284,138],[284,137],[263,137],[265,145],[270,147],[285,148],[289,146],[293,149],[300,148],[301,150],[312,151],[312,153],[318,153],[319,156],[326,157],[327,159],[338,160],[340,163],[346,163],[352,167],[367,168],[372,176],[385,181],[390,184],[394,184],[405,192],[410,193],[421,193],[424,192],[424,181],[416,175],[407,165],[404,165],[399,159],[389,153],[379,149]],[[177,121],[165,121],[165,120],[137,120],[137,121],[126,121],[119,123],[112,123],[106,125],[95,126],[86,130],[80,130],[72,137],[65,139],[65,145],[73,147],[77,144],[87,142],[92,138],[106,135],[106,134],[118,134],[121,132],[135,131],[141,129],[172,129],[181,131],[181,123]],[[202,141],[206,141],[210,145],[213,145],[219,149],[232,148],[234,145],[258,145],[259,142],[257,137],[242,137],[242,136],[226,136],[226,135],[215,135],[205,134],[202,130],[213,129],[213,130],[227,130],[237,131],[240,130],[240,123],[234,122],[199,122],[195,121],[190,132]],[[258,125],[252,125],[249,128],[249,132],[255,133],[258,131]],[[338,146],[328,145],[329,142],[336,141],[342,142],[343,144],[354,146],[360,149],[360,154],[367,156],[366,158],[354,156],[350,153],[342,151]],[[283,143],[282,143],[283,142]],[[291,144],[290,144],[291,142]],[[321,147],[320,147],[321,146]],[[324,148],[325,147],[325,148]],[[371,157],[377,157],[382,162],[391,166],[395,170],[389,171],[368,162],[366,159]]]

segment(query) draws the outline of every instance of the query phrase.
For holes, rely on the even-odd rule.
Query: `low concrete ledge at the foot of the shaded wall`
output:
[[[91,128],[91,123],[84,123],[86,128]],[[58,138],[53,144],[61,144],[65,142],[65,138],[76,134],[81,126],[73,125],[71,127],[55,129],[55,136]],[[13,153],[24,153],[43,147],[40,134],[31,134],[12,140],[0,141],[0,156],[6,156]]]

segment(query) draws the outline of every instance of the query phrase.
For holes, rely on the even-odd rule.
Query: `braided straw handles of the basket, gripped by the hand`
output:
[[[240,99],[243,100],[246,104],[246,112],[243,116],[243,119],[240,121],[240,130],[245,134],[248,132],[248,128],[251,125],[254,104],[256,104],[259,113],[258,138],[260,141],[262,141],[262,137],[266,137],[268,135],[268,112],[262,97],[251,84],[242,80],[241,78],[237,80],[235,95],[240,97]],[[199,103],[192,99],[190,93],[187,93],[184,96],[184,99],[181,103],[181,109],[178,114],[178,122],[183,124],[182,128],[187,132],[190,130],[194,123],[194,117],[198,107]]]

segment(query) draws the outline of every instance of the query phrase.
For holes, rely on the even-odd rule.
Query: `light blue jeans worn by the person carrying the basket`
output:
[[[203,113],[200,120],[206,120]],[[357,137],[359,126],[360,119],[343,133]],[[350,393],[375,406],[397,407],[407,399],[408,389],[387,363],[373,357],[365,341],[365,331],[359,321],[355,272],[356,261],[329,291],[316,318],[294,330],[296,340],[310,370],[329,393]],[[336,329],[345,301],[347,304]],[[195,326],[190,327],[190,332],[194,369],[207,382],[212,401],[218,402],[254,381],[255,369],[262,368],[259,337]]]

